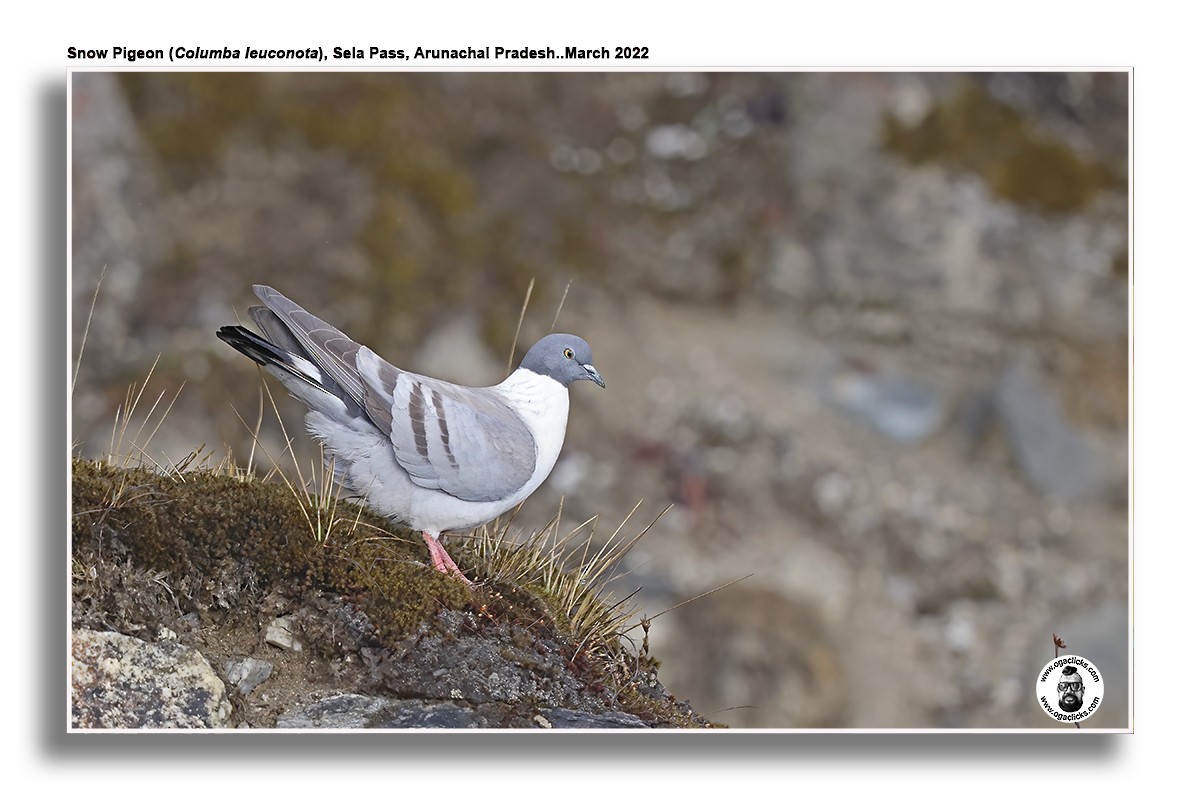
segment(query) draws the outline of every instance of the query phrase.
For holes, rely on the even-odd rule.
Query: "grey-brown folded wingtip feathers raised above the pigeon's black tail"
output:
[[[263,305],[251,308],[250,314],[266,338],[286,350],[310,357],[323,378],[341,389],[336,393],[348,396],[365,408],[366,391],[356,362],[362,345],[271,287],[256,285],[254,294]]]

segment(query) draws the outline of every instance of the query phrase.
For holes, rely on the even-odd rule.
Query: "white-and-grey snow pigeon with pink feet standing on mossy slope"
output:
[[[254,294],[263,336],[227,325],[217,337],[308,407],[305,423],[342,486],[421,531],[434,569],[468,584],[438,536],[494,519],[541,486],[566,433],[566,386],[605,385],[577,336],[540,339],[496,386],[458,386],[394,367],[270,287]]]

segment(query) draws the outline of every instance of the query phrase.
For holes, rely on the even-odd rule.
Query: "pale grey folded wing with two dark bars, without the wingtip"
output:
[[[365,347],[358,368],[367,415],[418,486],[487,503],[512,497],[533,476],[533,434],[494,389],[404,372]]]

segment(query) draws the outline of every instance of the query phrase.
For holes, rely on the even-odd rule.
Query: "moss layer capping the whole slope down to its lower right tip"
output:
[[[446,642],[478,634],[475,622],[461,631],[437,622],[444,609],[470,612],[460,619],[516,632],[503,655],[527,670],[552,674],[544,658],[557,652],[590,691],[652,724],[709,724],[648,680],[654,662],[629,656],[618,637],[587,648],[572,640],[570,609],[535,577],[521,585],[487,578],[469,548],[448,547],[484,587],[472,590],[430,569],[415,533],[355,505],[318,542],[300,500],[280,483],[72,462],[72,573],[88,620],[154,630],[157,618],[221,613],[215,595],[218,606],[253,610],[269,593],[331,593],[366,614],[384,646],[397,646],[431,625]],[[118,578],[128,585],[115,585]],[[164,613],[170,604],[175,614]]]

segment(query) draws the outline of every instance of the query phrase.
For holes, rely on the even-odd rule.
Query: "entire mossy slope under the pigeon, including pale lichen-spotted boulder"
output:
[[[478,587],[355,507],[323,540],[280,483],[77,461],[72,476],[77,728],[710,727],[646,654],[581,632],[502,559]],[[344,516],[342,516],[344,515]]]

